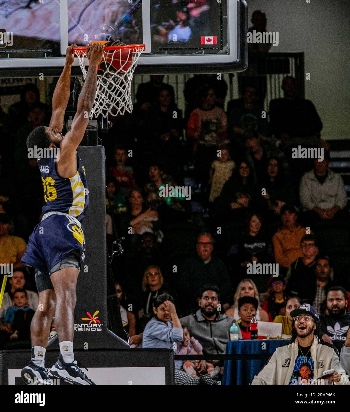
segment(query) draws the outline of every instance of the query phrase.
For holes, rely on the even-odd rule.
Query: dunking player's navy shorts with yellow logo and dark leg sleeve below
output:
[[[35,268],[38,292],[53,289],[51,274],[64,267],[80,270],[85,258],[85,236],[82,224],[61,212],[45,213],[29,237],[21,262]]]

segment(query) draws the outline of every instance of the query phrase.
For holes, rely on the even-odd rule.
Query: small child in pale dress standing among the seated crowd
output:
[[[212,162],[210,169],[210,202],[213,202],[218,196],[220,196],[222,187],[226,181],[229,180],[232,175],[232,171],[235,168],[235,162],[231,160],[229,148],[227,146],[222,146],[219,147],[219,150],[217,151],[217,159]]]

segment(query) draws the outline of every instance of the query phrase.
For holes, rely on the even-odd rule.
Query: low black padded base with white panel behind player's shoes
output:
[[[59,351],[47,351],[45,366],[50,368]],[[96,385],[173,385],[174,352],[171,349],[77,350],[74,351],[83,372]],[[25,385],[21,369],[28,365],[31,351],[0,352],[0,385]],[[53,378],[54,379],[54,378]],[[60,379],[56,385],[69,385]]]

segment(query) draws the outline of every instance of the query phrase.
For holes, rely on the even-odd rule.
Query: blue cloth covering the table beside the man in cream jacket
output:
[[[225,361],[223,385],[249,385],[268,358],[279,346],[289,344],[289,340],[233,340],[227,342],[226,354],[266,354],[264,359],[247,359],[243,361]]]

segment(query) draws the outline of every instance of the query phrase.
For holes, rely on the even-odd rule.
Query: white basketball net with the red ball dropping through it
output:
[[[122,49],[113,50],[108,54],[110,62],[106,61],[105,53],[103,54],[106,70],[98,70],[97,72],[97,91],[90,117],[97,117],[98,115],[107,117],[108,113],[117,116],[119,114],[124,115],[125,111],[132,112],[131,80],[133,80],[134,70],[143,49],[142,45],[124,49],[123,61],[121,59]],[[130,54],[132,54],[132,60],[130,67],[128,67]],[[79,65],[85,80],[87,74],[84,62],[86,51],[75,51],[75,55],[79,59]],[[119,70],[112,66],[112,61],[116,60],[119,61]],[[126,68],[124,69],[124,67]]]

